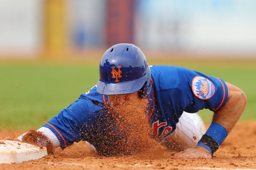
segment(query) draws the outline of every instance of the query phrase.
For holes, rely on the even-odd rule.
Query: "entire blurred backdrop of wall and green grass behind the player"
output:
[[[256,119],[255,0],[0,0],[0,128],[38,128],[97,83],[107,48],[240,87]],[[200,113],[207,122],[211,114]],[[209,116],[210,115],[210,116]]]

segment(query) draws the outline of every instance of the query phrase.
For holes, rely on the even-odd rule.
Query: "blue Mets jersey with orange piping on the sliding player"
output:
[[[151,66],[151,93],[147,114],[152,136],[162,140],[170,135],[183,111],[196,113],[204,108],[219,110],[227,101],[227,85],[222,79],[175,66]],[[122,119],[109,106],[107,96],[96,86],[63,109],[44,127],[58,137],[61,148],[75,141],[88,141],[99,154],[111,154],[126,145],[128,135]]]

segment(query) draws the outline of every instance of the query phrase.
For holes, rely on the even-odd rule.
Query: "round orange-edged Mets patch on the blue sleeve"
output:
[[[198,99],[207,100],[214,95],[215,86],[209,79],[195,76],[192,80],[192,90]]]

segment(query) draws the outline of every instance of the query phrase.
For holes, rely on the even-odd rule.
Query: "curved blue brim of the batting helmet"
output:
[[[106,83],[99,80],[97,84],[97,92],[104,95],[130,94],[139,91],[146,81],[146,76],[133,81],[125,81],[120,83]]]

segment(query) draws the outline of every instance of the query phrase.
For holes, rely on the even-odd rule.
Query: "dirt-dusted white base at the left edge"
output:
[[[40,159],[46,155],[45,147],[40,148],[18,141],[0,140],[0,164],[20,163]]]

